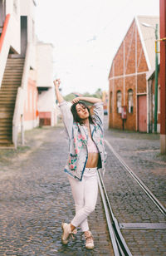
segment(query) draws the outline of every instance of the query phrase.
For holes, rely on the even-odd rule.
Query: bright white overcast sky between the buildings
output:
[[[159,16],[159,0],[39,0],[36,33],[54,47],[62,94],[108,90],[115,53],[135,15]]]

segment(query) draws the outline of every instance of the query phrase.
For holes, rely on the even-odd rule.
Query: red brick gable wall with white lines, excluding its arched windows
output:
[[[122,106],[127,107],[127,120],[125,121],[126,130],[137,130],[136,116],[138,114],[137,114],[137,106],[136,106],[136,97],[137,97],[137,93],[144,93],[144,92],[146,93],[146,74],[137,74],[137,77],[135,76],[135,71],[136,71],[135,56],[137,57],[137,72],[148,71],[147,62],[144,57],[144,50],[139,38],[139,32],[137,29],[135,29],[135,26],[136,26],[135,22],[132,22],[125,36],[124,41],[121,43],[120,48],[115,55],[115,58],[113,60],[111,70],[110,70],[110,91],[113,92],[113,97],[114,97],[113,110],[112,110],[112,113],[109,114],[109,125],[112,128],[122,129],[121,115],[117,113],[117,102],[116,102],[117,91],[120,90],[122,92]],[[135,35],[135,31],[137,35]],[[135,39],[137,39],[136,45],[135,45]],[[135,54],[136,47],[137,47],[137,51]],[[125,56],[125,69],[124,69],[124,56]],[[113,71],[114,71],[114,74],[113,74]],[[124,76],[124,73],[125,75],[129,75],[129,76]],[[115,76],[121,76],[121,77],[115,77]],[[111,77],[115,77],[115,78],[111,79]],[[125,88],[125,91],[124,91],[124,88]],[[133,113],[129,113],[128,111],[129,89],[132,89],[134,92]]]

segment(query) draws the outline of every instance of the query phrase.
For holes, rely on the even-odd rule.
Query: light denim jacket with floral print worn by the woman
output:
[[[73,121],[71,108],[66,101],[59,104],[66,132],[69,138],[69,156],[65,166],[65,172],[77,180],[82,180],[86,161],[88,158],[87,139],[88,135],[84,126]],[[100,159],[98,169],[105,170],[105,145],[103,139],[103,102],[97,102],[94,105],[94,115],[92,116],[94,124],[90,124],[92,140],[97,146]]]

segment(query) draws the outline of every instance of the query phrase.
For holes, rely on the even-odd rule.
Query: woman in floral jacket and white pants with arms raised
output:
[[[61,81],[54,81],[56,99],[69,137],[69,158],[65,167],[75,200],[76,215],[70,224],[62,223],[62,244],[67,244],[76,227],[85,234],[85,248],[94,249],[94,240],[87,217],[95,209],[98,194],[97,169],[104,170],[105,149],[103,140],[103,102],[93,97],[76,97],[71,109],[59,91]],[[94,104],[94,115],[85,103]]]

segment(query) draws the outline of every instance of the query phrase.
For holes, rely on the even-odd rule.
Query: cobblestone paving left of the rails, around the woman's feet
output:
[[[69,222],[75,212],[63,172],[67,141],[61,128],[35,129],[27,135],[25,152],[1,157],[0,255],[112,254],[100,196],[90,216],[95,249],[85,249],[81,232],[69,245],[61,244],[61,221]]]

